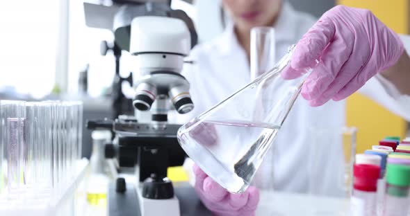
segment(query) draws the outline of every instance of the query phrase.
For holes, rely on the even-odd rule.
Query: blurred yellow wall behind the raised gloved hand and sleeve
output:
[[[338,0],[338,4],[370,9],[396,33],[409,34],[409,0]],[[354,93],[347,99],[347,125],[358,128],[357,152],[361,153],[384,136],[403,137],[406,122],[372,100]]]

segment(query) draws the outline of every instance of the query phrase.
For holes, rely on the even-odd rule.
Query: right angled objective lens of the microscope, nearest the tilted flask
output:
[[[170,90],[170,98],[179,114],[186,114],[194,109],[194,103],[190,98],[189,91],[184,86],[174,87]]]

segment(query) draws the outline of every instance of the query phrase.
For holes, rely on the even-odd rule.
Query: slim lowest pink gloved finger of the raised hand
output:
[[[356,42],[356,44],[359,42]],[[336,93],[341,91],[347,83],[349,83],[358,73],[361,73],[361,68],[369,59],[370,45],[362,44],[355,48],[356,51],[350,55],[349,60],[343,64],[341,71],[336,75],[329,87],[322,93],[319,98],[309,101],[312,107],[324,105],[325,102],[331,100]]]

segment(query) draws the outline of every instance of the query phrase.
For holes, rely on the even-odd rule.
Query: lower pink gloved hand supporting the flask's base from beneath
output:
[[[259,190],[249,186],[240,195],[232,194],[222,188],[218,183],[208,177],[196,164],[193,166],[195,173],[195,190],[202,203],[214,215],[224,216],[251,216],[255,215],[259,203]]]

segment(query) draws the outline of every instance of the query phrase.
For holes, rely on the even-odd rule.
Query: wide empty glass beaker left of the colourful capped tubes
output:
[[[345,198],[351,196],[356,132],[355,127],[309,129],[312,143],[307,162],[309,194]],[[333,163],[326,168],[328,154],[332,155]],[[318,176],[322,178],[318,179]]]

